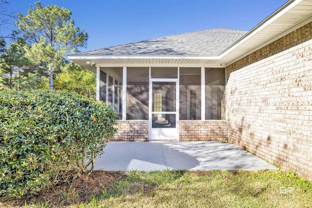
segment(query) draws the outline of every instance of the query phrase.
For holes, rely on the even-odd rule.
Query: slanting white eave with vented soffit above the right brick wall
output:
[[[256,47],[310,16],[312,16],[312,0],[290,0],[222,52],[220,58],[230,63],[247,56]]]

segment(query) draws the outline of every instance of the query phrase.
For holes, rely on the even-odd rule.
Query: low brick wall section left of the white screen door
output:
[[[148,121],[118,121],[117,128],[111,141],[148,141]]]

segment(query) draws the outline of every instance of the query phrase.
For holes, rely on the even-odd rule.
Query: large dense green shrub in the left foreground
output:
[[[0,198],[92,170],[117,118],[101,101],[78,94],[0,92]]]

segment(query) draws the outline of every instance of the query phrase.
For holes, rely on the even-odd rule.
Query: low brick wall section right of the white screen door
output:
[[[179,121],[180,141],[227,142],[227,121]]]

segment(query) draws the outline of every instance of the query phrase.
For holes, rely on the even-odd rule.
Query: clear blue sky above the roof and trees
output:
[[[8,10],[27,14],[36,0],[9,0]],[[159,38],[211,28],[251,30],[287,0],[41,0],[72,11],[89,35],[87,48]],[[14,25],[10,29],[16,29]],[[9,30],[10,30],[9,29]],[[8,31],[9,31],[8,30]],[[7,40],[8,42],[9,40]]]

